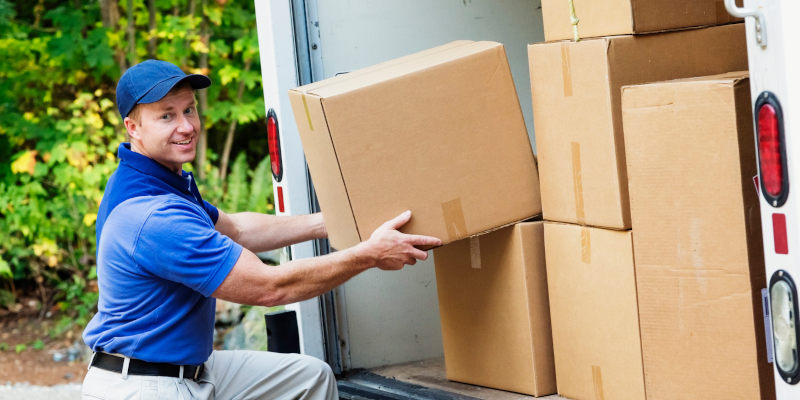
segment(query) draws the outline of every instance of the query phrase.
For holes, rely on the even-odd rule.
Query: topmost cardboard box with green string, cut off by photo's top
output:
[[[741,1],[739,2],[741,5]],[[722,0],[574,0],[581,38],[660,32],[740,21]],[[572,39],[566,0],[542,0],[547,41]]]

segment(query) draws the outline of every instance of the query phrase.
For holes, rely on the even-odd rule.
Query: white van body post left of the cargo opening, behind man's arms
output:
[[[311,203],[306,164],[302,151],[298,151],[302,145],[288,94],[289,89],[299,86],[290,0],[256,0],[255,6],[264,103],[267,110],[272,108],[277,114],[283,154],[283,179],[281,182],[273,179],[273,187],[276,199],[277,188],[283,188],[285,209],[277,214],[308,214]],[[294,259],[314,257],[311,242],[291,246],[291,251]],[[297,313],[303,354],[325,360],[319,299],[290,304],[286,308]]]

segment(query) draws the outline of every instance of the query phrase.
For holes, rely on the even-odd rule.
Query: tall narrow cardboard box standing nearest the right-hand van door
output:
[[[747,73],[623,89],[648,400],[773,399]]]

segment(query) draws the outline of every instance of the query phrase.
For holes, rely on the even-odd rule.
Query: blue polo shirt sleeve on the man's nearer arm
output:
[[[217,232],[203,211],[171,199],[153,208],[132,256],[146,271],[208,297],[233,269],[242,246]]]

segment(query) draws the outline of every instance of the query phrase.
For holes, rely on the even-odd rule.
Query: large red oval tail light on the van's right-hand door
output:
[[[786,176],[781,108],[772,93],[765,92],[759,96],[756,117],[762,192],[773,207],[780,207],[786,201],[789,181]]]

